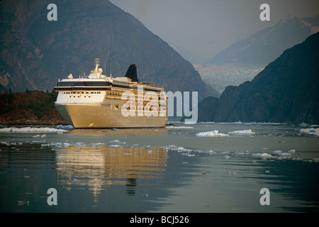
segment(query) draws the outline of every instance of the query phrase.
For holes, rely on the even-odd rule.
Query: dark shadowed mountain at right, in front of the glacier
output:
[[[226,87],[219,99],[203,99],[198,121],[319,123],[318,59],[315,33],[285,50],[252,82]]]

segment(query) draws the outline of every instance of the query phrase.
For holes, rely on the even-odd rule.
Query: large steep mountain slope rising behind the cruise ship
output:
[[[58,0],[57,21],[48,21],[45,0],[0,2],[0,92],[52,91],[59,78],[89,74],[94,58],[113,77],[130,64],[138,79],[167,91],[220,94],[190,62],[129,13],[98,0]]]

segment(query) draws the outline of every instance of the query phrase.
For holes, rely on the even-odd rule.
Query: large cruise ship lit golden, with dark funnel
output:
[[[95,59],[89,76],[59,79],[55,107],[74,128],[149,128],[167,123],[163,87],[140,82],[135,65],[125,77],[107,77]]]

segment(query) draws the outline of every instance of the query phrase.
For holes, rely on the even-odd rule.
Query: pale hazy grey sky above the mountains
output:
[[[173,48],[202,58],[217,52],[286,16],[319,14],[319,0],[110,0],[140,20]],[[270,21],[259,19],[269,4]]]

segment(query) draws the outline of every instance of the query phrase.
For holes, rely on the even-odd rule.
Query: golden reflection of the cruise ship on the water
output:
[[[123,148],[114,145],[57,148],[57,179],[66,189],[89,187],[96,197],[107,185],[122,184],[135,194],[140,179],[160,178],[167,166],[167,150],[162,148]]]

